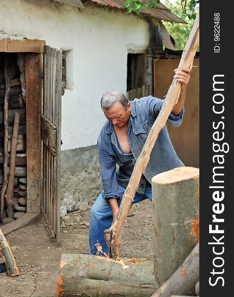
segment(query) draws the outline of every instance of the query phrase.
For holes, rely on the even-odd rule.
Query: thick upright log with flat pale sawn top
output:
[[[160,287],[198,243],[199,169],[179,167],[152,178],[155,281]]]

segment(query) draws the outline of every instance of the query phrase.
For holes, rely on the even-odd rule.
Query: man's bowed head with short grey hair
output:
[[[111,91],[103,95],[101,107],[114,126],[123,127],[129,119],[131,104],[123,93]]]

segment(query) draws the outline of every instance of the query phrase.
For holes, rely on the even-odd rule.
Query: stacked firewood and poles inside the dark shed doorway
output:
[[[24,55],[22,53],[0,53],[1,223],[12,222],[22,217],[26,212],[27,167],[24,68]]]

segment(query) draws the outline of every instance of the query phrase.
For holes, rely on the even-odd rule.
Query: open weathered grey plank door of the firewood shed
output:
[[[44,47],[44,96],[41,115],[42,213],[59,241],[62,51]]]

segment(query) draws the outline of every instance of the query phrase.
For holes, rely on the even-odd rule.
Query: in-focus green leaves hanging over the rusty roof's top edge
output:
[[[160,3],[160,0],[148,0],[147,3],[144,0],[126,0],[123,4],[127,8],[127,12],[131,13],[135,11],[137,14],[140,14],[141,9],[144,7],[157,7],[157,4]],[[196,18],[196,8],[199,4],[199,0],[178,0],[181,5],[181,18],[195,19]]]

